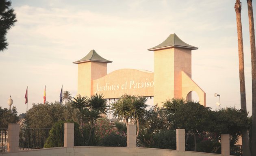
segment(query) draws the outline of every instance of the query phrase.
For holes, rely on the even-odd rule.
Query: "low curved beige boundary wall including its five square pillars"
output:
[[[18,124],[10,124],[16,135]],[[177,150],[136,147],[136,126],[129,125],[127,133],[127,147],[74,147],[74,123],[65,123],[64,146],[35,150],[18,150],[18,142],[13,140],[13,147],[9,152],[0,156],[229,156],[229,135],[221,135],[221,154],[185,151],[185,130],[176,130]],[[8,138],[12,136],[8,136]],[[11,142],[11,141],[10,141]],[[9,143],[9,142],[8,142]]]

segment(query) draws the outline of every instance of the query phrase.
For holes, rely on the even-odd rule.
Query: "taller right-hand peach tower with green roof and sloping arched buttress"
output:
[[[191,91],[195,91],[200,104],[206,105],[204,91],[191,79],[191,50],[196,49],[176,34],[148,49],[154,51],[154,104],[171,98],[191,100]]]

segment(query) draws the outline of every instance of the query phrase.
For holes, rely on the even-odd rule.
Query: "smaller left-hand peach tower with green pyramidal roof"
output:
[[[93,95],[93,80],[107,74],[107,64],[112,63],[102,58],[95,50],[91,50],[84,58],[75,61],[78,64],[78,93],[80,95]]]

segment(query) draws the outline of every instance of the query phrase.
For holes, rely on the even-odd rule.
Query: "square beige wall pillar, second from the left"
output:
[[[74,123],[64,123],[64,147],[74,147]]]

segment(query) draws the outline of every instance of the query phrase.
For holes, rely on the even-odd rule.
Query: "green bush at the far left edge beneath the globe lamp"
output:
[[[0,106],[0,128],[8,128],[8,124],[16,124],[19,121],[16,107],[13,106],[11,111],[8,108]]]

